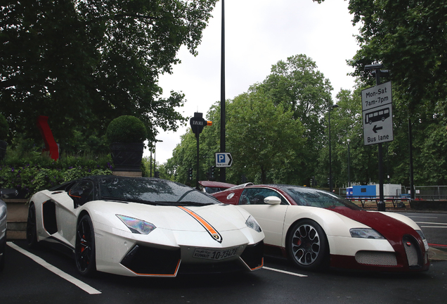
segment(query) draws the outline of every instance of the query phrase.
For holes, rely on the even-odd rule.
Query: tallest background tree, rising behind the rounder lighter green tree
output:
[[[303,54],[278,61],[261,87],[276,105],[292,110],[294,119],[302,122],[308,148],[300,161],[300,175],[308,180],[315,175],[318,154],[327,145],[325,114],[332,106],[330,81],[317,70],[316,63]],[[308,184],[306,182],[306,184]]]

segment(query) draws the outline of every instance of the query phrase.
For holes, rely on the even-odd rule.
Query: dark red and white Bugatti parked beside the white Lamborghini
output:
[[[302,269],[429,269],[427,240],[404,215],[366,211],[328,191],[302,186],[246,184],[212,195],[254,216],[266,236],[266,254],[280,253]]]

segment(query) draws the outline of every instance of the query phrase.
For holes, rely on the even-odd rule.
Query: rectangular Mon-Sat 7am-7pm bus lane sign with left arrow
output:
[[[362,91],[363,144],[393,141],[391,82]]]

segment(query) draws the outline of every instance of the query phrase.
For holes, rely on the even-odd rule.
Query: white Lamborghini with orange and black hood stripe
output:
[[[257,270],[264,233],[242,208],[164,179],[85,177],[30,200],[27,241],[60,244],[77,270],[125,276]]]

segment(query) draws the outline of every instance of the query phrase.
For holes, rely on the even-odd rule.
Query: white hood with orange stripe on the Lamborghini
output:
[[[89,209],[101,212],[107,208],[109,216],[95,217],[102,221],[108,218],[116,222],[115,215],[126,215],[138,220],[150,222],[157,228],[176,231],[203,232],[204,224],[208,223],[214,229],[224,232],[247,227],[245,221],[250,216],[244,210],[233,205],[205,205],[205,206],[162,206],[145,205],[142,203],[118,203],[110,201],[96,201],[89,203]],[[112,224],[105,223],[103,224]],[[116,227],[116,226],[115,226]]]

